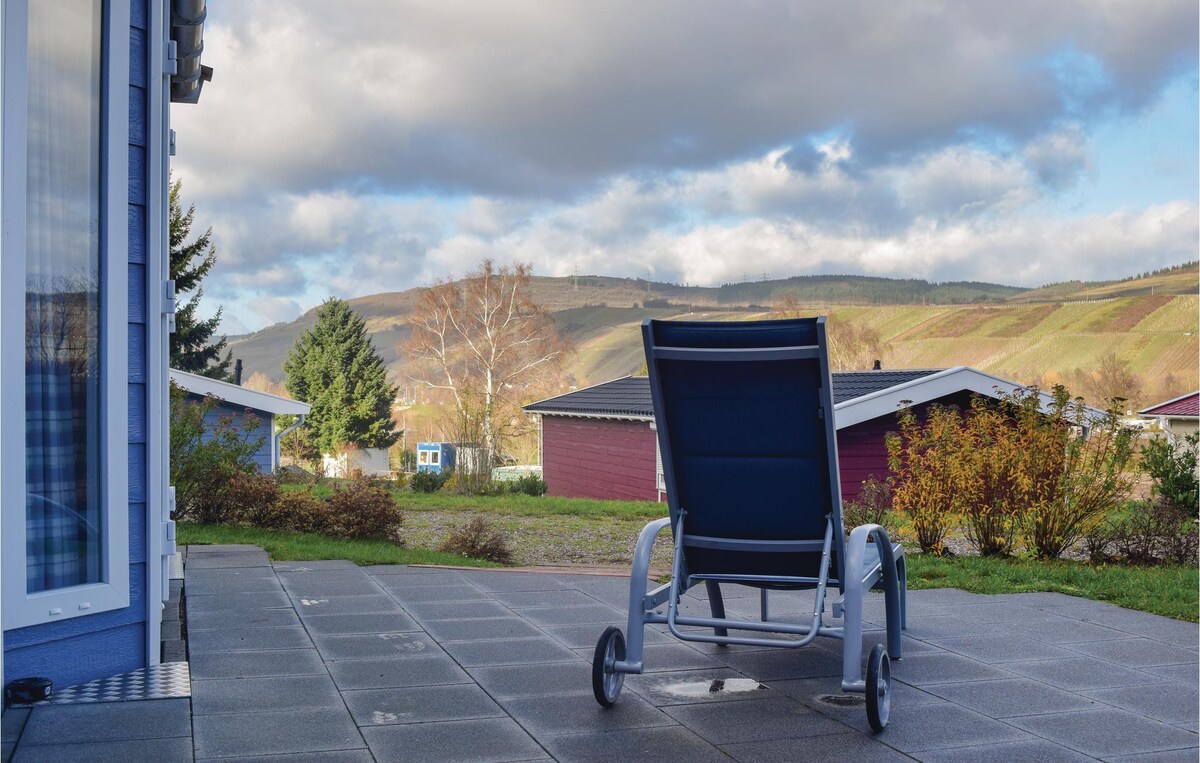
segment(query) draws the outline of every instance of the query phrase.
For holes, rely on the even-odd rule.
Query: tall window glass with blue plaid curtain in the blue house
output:
[[[101,24],[101,0],[29,4],[29,593],[102,579]]]

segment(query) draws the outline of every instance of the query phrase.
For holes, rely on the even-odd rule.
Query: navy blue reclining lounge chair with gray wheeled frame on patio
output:
[[[826,636],[842,639],[842,691],[865,693],[871,728],[882,731],[890,707],[888,655],[900,657],[905,627],[904,551],[877,524],[844,540],[824,318],[647,320],[642,336],[670,516],[647,524],[637,540],[628,643],[616,626],[600,636],[592,667],[596,701],[611,707],[625,674],[644,669],[648,623],[716,644],[797,648]],[[650,549],[668,524],[671,582],[650,590]],[[680,613],[680,597],[701,582],[712,617]],[[761,589],[761,620],[727,618],[722,583]],[[830,585],[832,615],[841,625],[824,623]],[[887,648],[871,649],[864,680],[863,591],[872,587],[886,595]],[[767,590],[796,589],[815,589],[811,619],[768,620]]]

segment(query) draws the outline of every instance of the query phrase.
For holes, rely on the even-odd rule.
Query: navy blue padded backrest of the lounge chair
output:
[[[841,491],[824,318],[646,320],[646,362],[672,529],[686,511],[691,573],[815,577],[834,522],[830,576],[842,581]]]

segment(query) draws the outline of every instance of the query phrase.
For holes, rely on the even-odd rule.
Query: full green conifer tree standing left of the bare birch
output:
[[[366,322],[344,300],[317,308],[317,324],[296,337],[283,371],[288,393],[312,405],[306,426],[317,452],[388,447],[400,437],[391,422],[400,387],[389,384]]]

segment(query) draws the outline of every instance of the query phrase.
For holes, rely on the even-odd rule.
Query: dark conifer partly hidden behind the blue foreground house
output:
[[[221,325],[221,311],[208,320],[196,317],[200,298],[204,289],[200,281],[212,270],[217,262],[216,250],[212,247],[212,229],[209,228],[194,241],[187,241],[192,230],[192,218],[196,215],[196,205],[192,204],[184,212],[182,202],[179,199],[180,188],[184,181],[176,180],[170,184],[170,196],[168,198],[170,209],[170,277],[175,281],[175,298],[180,306],[175,308],[175,331],[170,335],[170,367],[198,373],[214,379],[230,378],[229,365],[233,362],[233,353],[226,349],[226,337],[212,341],[212,335]],[[182,301],[184,294],[192,294],[187,302]],[[224,350],[224,358],[222,358]]]

